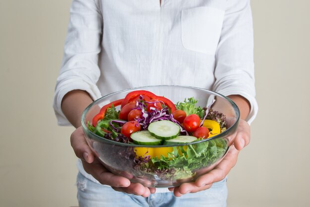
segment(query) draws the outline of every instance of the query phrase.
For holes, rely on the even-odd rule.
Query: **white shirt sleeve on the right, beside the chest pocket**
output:
[[[246,121],[258,112],[255,99],[253,19],[250,0],[227,0],[216,51],[213,90],[225,96],[241,95],[251,104]]]

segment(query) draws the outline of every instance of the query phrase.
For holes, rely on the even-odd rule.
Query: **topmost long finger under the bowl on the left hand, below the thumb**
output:
[[[128,187],[130,185],[130,180],[109,172],[97,159],[91,164],[82,160],[82,164],[85,171],[103,185],[112,187]]]

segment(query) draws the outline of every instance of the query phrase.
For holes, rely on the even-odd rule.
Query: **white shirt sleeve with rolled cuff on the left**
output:
[[[73,0],[61,69],[56,80],[53,109],[58,125],[70,126],[61,110],[63,96],[71,90],[85,90],[93,100],[101,97],[96,83],[100,76],[103,19],[95,0]]]

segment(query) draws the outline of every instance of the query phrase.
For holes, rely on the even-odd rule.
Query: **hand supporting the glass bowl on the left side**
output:
[[[88,146],[81,127],[72,133],[70,140],[76,156],[82,160],[85,171],[101,184],[109,185],[115,191],[143,197],[149,197],[151,193],[155,193],[155,188],[147,188],[140,183],[131,183],[129,179],[109,172]]]

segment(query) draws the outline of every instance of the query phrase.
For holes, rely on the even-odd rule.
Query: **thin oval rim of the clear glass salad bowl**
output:
[[[235,113],[236,113],[236,121],[228,128],[226,129],[224,132],[216,135],[216,136],[213,136],[211,138],[207,138],[207,139],[201,139],[201,140],[198,140],[198,141],[193,141],[193,142],[189,142],[189,143],[182,143],[182,144],[173,144],[173,145],[140,145],[140,144],[133,144],[133,143],[122,143],[122,142],[117,142],[117,141],[113,141],[113,140],[110,140],[110,139],[106,139],[106,138],[103,138],[103,137],[100,137],[99,135],[96,135],[95,133],[91,132],[88,127],[85,125],[84,123],[84,119],[85,119],[85,116],[87,114],[87,112],[94,106],[96,105],[98,102],[102,101],[102,99],[108,97],[108,96],[112,96],[114,94],[117,94],[117,93],[121,93],[121,92],[126,92],[126,91],[133,91],[133,90],[139,90],[139,89],[143,89],[143,88],[148,88],[148,87],[184,87],[184,88],[192,88],[194,90],[203,90],[203,91],[206,91],[208,92],[209,94],[213,94],[213,95],[216,95],[216,96],[220,96],[221,98],[224,98],[226,99],[230,104],[231,106],[233,107]],[[168,97],[167,97],[168,98]],[[116,91],[116,92],[113,92],[113,93],[109,93],[97,100],[95,100],[93,103],[91,103],[84,111],[83,111],[83,114],[81,116],[81,122],[82,122],[82,127],[84,130],[86,130],[88,133],[92,134],[96,139],[98,140],[101,140],[103,142],[106,142],[106,143],[110,143],[110,144],[115,144],[115,145],[120,145],[120,146],[131,146],[131,147],[153,147],[153,148],[157,148],[157,147],[174,147],[174,146],[186,146],[186,145],[190,145],[190,144],[197,144],[197,143],[201,143],[201,142],[205,142],[205,141],[210,141],[210,140],[213,140],[213,139],[216,139],[216,138],[222,138],[222,137],[225,137],[232,129],[235,128],[235,125],[238,124],[239,122],[239,119],[240,119],[240,111],[239,111],[239,108],[238,106],[235,104],[235,102],[233,102],[230,98],[220,94],[220,93],[217,93],[217,92],[214,92],[214,91],[211,91],[211,90],[207,90],[205,88],[199,88],[199,87],[194,87],[194,86],[184,86],[184,85],[149,85],[149,86],[140,86],[140,87],[134,87],[134,88],[128,88],[128,89],[124,89],[124,90],[119,90],[119,91]]]

